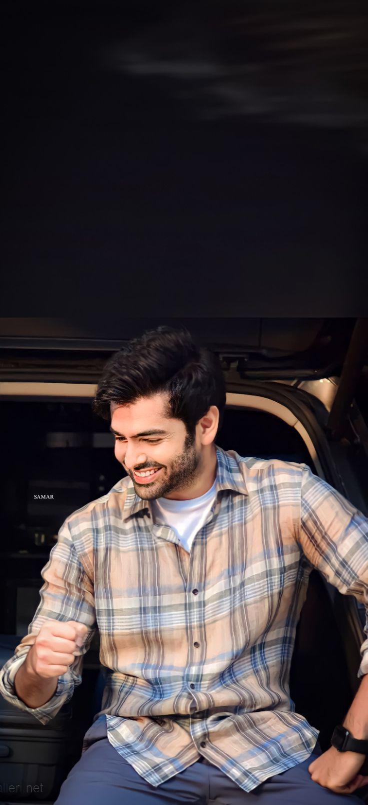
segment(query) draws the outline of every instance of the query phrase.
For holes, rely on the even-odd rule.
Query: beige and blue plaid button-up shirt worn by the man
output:
[[[0,690],[47,724],[98,628],[110,669],[99,715],[117,752],[153,786],[202,754],[252,791],[316,745],[289,694],[296,624],[313,567],[368,612],[368,521],[305,464],[216,453],[215,503],[190,553],[129,477],[63,522]],[[14,675],[47,618],[89,633],[55,695],[31,709]],[[368,672],[368,639],[357,671]]]

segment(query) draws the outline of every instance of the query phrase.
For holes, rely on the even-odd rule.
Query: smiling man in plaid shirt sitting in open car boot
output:
[[[93,407],[128,477],[63,522],[0,677],[46,724],[100,632],[111,673],[57,805],[361,802],[368,640],[346,747],[321,753],[288,675],[313,567],[368,611],[368,522],[305,464],[217,447],[225,402],[218,358],[186,331],[104,367]]]

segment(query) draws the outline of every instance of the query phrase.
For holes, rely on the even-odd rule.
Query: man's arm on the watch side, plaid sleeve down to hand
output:
[[[343,595],[366,606],[368,635],[368,519],[308,467],[301,483],[299,541],[314,568]],[[358,677],[362,682],[343,721],[358,740],[368,739],[368,640],[361,646]],[[313,780],[339,794],[351,794],[368,783],[359,774],[366,756],[338,752],[331,746],[309,766]]]

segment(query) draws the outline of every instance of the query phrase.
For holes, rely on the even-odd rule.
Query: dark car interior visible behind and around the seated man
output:
[[[125,477],[125,470],[114,456],[108,423],[94,415],[87,398],[47,398],[45,394],[37,399],[27,397],[25,391],[23,397],[3,399],[1,411],[3,664],[27,634],[39,604],[40,571],[63,520],[108,492]],[[318,474],[301,434],[267,411],[228,406],[215,443],[240,456],[305,463]],[[48,490],[54,499],[35,498]],[[341,598],[313,570],[292,658],[292,700],[296,712],[320,730],[323,751],[354,698],[350,669],[355,669],[356,676],[360,662],[358,654],[351,656],[350,643],[344,640]],[[96,635],[84,658],[82,684],[47,725],[0,700],[2,802],[55,802],[63,779],[80,758],[84,733],[100,709],[106,673],[108,669],[100,665]],[[365,791],[356,794],[364,799]]]

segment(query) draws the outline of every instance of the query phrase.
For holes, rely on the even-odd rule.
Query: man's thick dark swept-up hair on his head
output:
[[[223,424],[226,385],[219,357],[194,343],[186,328],[166,325],[128,342],[104,365],[92,411],[110,419],[110,403],[125,405],[141,397],[166,393],[166,416],[182,419],[194,435],[196,423],[211,407]]]

